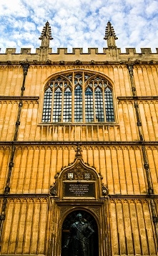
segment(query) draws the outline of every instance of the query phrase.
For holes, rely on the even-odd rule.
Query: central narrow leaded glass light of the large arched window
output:
[[[82,122],[82,87],[74,90],[74,122]]]

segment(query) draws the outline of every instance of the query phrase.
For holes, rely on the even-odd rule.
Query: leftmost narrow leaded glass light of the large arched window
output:
[[[44,92],[44,107],[43,107],[42,122],[51,121],[51,102],[52,102],[52,91],[50,88],[48,88]]]

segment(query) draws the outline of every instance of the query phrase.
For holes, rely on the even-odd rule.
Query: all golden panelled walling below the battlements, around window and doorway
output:
[[[157,64],[134,65],[144,147],[156,205],[157,68]],[[46,82],[56,72],[74,69],[100,72],[111,79],[116,124],[41,123]],[[11,141],[14,139],[23,77],[21,65],[0,65],[1,205],[5,198],[2,196],[9,172]],[[147,174],[144,169],[142,145],[139,143],[135,99],[132,97],[127,65],[30,65],[22,100],[0,255],[52,255],[50,226],[57,220],[51,212],[49,187],[54,184],[54,175],[61,172],[62,167],[74,162],[76,142],[82,142],[84,162],[102,174],[102,182],[109,189],[108,207],[112,234],[110,256],[157,255],[152,199],[147,196]],[[107,215],[107,212],[104,212],[104,215]]]

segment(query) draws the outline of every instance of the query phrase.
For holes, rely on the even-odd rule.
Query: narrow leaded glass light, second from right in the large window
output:
[[[95,114],[97,122],[104,122],[104,107],[102,89],[97,87],[95,90]]]

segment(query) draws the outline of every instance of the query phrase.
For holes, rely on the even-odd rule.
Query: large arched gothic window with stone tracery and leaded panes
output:
[[[114,122],[112,84],[87,72],[54,77],[45,88],[42,122]]]

